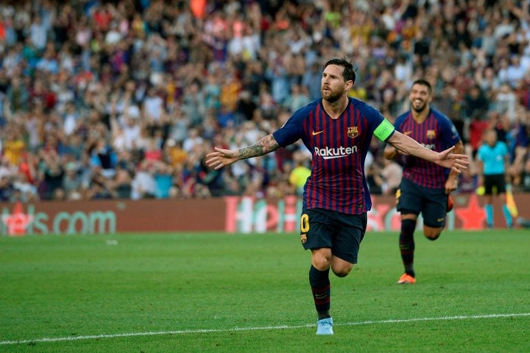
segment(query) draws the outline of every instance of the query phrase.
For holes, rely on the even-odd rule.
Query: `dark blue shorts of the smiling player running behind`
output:
[[[433,228],[444,227],[447,212],[447,198],[444,188],[421,187],[410,180],[402,179],[400,189],[395,193],[397,211],[401,214],[422,213],[423,224]]]

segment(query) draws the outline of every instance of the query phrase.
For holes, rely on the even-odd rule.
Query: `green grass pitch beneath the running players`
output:
[[[530,313],[529,231],[416,249],[396,285],[397,234],[369,233],[321,337],[297,234],[0,237],[0,352],[530,352],[530,316],[469,317]],[[145,332],[173,334],[39,341]]]

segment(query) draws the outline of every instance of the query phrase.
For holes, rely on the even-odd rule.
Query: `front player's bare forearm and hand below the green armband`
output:
[[[430,149],[426,149],[411,137],[406,136],[399,131],[395,131],[389,138],[388,142],[402,153],[415,155],[416,157],[451,169],[456,173],[461,173],[462,171],[466,170],[467,166],[469,165],[469,162],[467,161],[467,155],[451,153],[455,149],[455,146],[452,146],[451,148],[442,152],[435,152]]]

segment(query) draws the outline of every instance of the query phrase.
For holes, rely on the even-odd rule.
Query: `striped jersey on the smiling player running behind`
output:
[[[422,124],[418,124],[412,117],[411,111],[403,113],[394,123],[395,130],[409,135],[422,146],[436,152],[444,151],[460,141],[458,131],[453,122],[444,114],[433,108]],[[421,158],[407,155],[403,168],[403,177],[415,184],[429,188],[443,188],[449,175],[449,169],[422,160]]]

